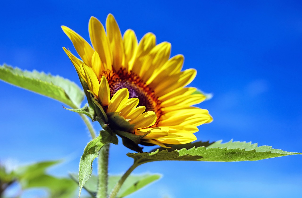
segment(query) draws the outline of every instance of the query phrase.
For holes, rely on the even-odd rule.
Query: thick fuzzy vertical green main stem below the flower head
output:
[[[97,198],[107,198],[108,187],[108,156],[110,143],[105,144],[98,156],[98,191]]]

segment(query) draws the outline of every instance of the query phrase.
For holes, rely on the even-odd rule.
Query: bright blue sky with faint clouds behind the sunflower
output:
[[[90,16],[104,24],[112,13],[122,32],[131,28],[140,39],[150,31],[157,43],[170,42],[171,56],[184,54],[184,69],[198,71],[191,86],[214,94],[198,105],[214,117],[199,127],[198,140],[233,138],[302,151],[300,1],[2,1],[0,7],[0,64],[79,84],[62,49],[73,50],[72,43],[60,26],[89,40]],[[60,102],[6,83],[0,82],[0,90],[0,159],[23,164],[64,158],[50,172],[77,172],[89,141],[80,117]],[[131,165],[128,152],[123,145],[111,147],[110,173]],[[255,162],[143,164],[134,172],[164,177],[129,198],[300,197],[301,162],[296,155]]]

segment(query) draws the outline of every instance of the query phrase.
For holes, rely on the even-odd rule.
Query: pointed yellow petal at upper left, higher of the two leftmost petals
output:
[[[84,61],[86,65],[89,67],[92,67],[91,65],[91,58],[94,53],[93,48],[89,45],[87,41],[83,37],[81,37],[79,34],[77,34],[72,29],[61,26],[64,33],[69,37],[69,39],[72,41],[73,46],[76,48],[76,51]]]

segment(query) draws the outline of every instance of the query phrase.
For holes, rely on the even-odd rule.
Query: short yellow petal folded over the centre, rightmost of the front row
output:
[[[156,114],[153,111],[147,111],[139,115],[134,120],[130,121],[131,125],[135,125],[134,129],[146,128],[153,125],[156,122]]]

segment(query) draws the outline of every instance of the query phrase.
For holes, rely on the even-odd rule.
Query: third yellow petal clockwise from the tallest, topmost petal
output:
[[[168,42],[162,42],[149,52],[148,56],[143,62],[142,68],[140,70],[141,78],[147,82],[148,79],[157,73],[158,70],[169,60],[171,53],[171,44]]]

